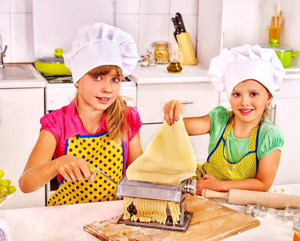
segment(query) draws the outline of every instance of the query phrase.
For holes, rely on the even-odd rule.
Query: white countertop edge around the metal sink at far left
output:
[[[17,65],[27,66],[29,70],[32,72],[32,74],[34,75],[35,79],[0,80],[0,89],[43,88],[46,86],[45,79],[33,67],[32,64],[17,64]]]

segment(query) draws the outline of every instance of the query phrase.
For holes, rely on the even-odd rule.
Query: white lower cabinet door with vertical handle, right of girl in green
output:
[[[274,124],[284,137],[278,171],[273,185],[300,183],[300,98],[273,99]]]

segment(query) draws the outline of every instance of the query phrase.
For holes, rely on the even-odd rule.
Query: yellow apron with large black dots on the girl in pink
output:
[[[112,139],[107,140],[108,137],[107,132],[70,137],[66,140],[64,154],[80,157],[113,180],[119,181],[125,170],[123,142],[116,143]],[[47,206],[117,200],[115,191],[116,186],[100,174],[92,183],[87,179],[67,182],[63,178]]]

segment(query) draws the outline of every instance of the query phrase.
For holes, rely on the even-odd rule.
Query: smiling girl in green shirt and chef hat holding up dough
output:
[[[267,191],[280,160],[283,136],[267,119],[268,105],[285,71],[272,49],[243,45],[222,49],[211,60],[208,77],[225,91],[232,112],[218,106],[207,115],[184,118],[188,135],[210,134],[207,161],[198,164],[197,194],[202,189]],[[164,106],[169,125],[183,106],[172,100]]]

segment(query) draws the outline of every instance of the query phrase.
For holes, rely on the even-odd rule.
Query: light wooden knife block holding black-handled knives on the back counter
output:
[[[195,65],[197,64],[197,59],[195,51],[192,47],[192,43],[188,32],[181,32],[176,34],[177,42],[179,45],[179,52],[183,53],[183,59],[181,64],[184,65]]]

